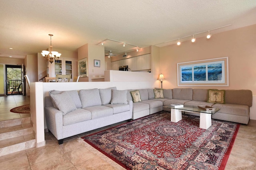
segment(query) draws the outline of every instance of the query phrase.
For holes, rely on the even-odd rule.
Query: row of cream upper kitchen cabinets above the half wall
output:
[[[131,71],[150,70],[151,56],[150,54],[146,54],[111,62],[112,70],[119,70],[119,66],[126,65],[128,65]]]

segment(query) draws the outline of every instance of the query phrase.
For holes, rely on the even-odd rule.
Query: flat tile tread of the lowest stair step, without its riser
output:
[[[8,147],[8,146],[15,145],[18,143],[23,143],[26,141],[30,141],[32,139],[36,139],[34,134],[28,134],[28,135],[24,135],[24,136],[5,139],[5,140],[0,141],[0,148]]]

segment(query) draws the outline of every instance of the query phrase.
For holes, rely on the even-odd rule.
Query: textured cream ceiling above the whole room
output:
[[[256,24],[256,0],[0,0],[0,57],[41,52],[49,33],[53,48],[76,51],[104,39],[165,46],[229,24],[211,33]],[[105,50],[129,50],[119,46]]]

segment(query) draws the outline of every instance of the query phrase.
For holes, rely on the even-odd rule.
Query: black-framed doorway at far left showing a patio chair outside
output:
[[[22,95],[22,66],[6,65],[6,95]]]

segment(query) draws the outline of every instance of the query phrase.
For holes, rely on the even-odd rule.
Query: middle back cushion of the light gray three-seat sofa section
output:
[[[82,103],[82,108],[101,105],[100,92],[98,88],[89,90],[80,90],[79,97]]]

